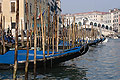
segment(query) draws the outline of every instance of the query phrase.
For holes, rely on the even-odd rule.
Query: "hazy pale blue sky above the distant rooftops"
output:
[[[62,14],[91,11],[108,12],[120,8],[120,0],[61,0]]]

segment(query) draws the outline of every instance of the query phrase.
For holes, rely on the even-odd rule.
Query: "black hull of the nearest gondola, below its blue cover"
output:
[[[50,67],[51,65],[56,65],[61,62],[68,61],[70,59],[76,58],[78,56],[84,55],[89,49],[88,44],[84,44],[82,47],[80,47],[80,51],[78,52],[73,52],[73,53],[68,53],[56,57],[50,57],[46,58],[46,60],[37,60],[37,67]],[[29,68],[32,69],[34,67],[34,61],[29,62]],[[25,62],[23,63],[18,63],[18,69],[23,69],[25,68]],[[13,69],[13,64],[0,64],[0,69]]]

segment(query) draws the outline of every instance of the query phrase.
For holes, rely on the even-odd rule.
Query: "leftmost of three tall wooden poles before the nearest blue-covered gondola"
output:
[[[15,34],[15,56],[14,56],[14,73],[13,73],[13,80],[16,80],[17,74],[17,55],[18,55],[18,27],[19,27],[19,0],[16,0],[16,34]]]

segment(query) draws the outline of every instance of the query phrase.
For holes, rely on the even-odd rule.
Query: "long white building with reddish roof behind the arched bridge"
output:
[[[65,18],[65,25],[67,24],[67,19],[70,19],[70,22],[72,24],[73,17],[75,16],[76,23],[79,23],[81,25],[90,25],[91,23],[95,26],[98,26],[98,24],[104,25],[103,27],[106,28],[106,26],[111,26],[111,24],[107,24],[104,21],[105,14],[108,14],[108,12],[99,12],[99,11],[93,11],[93,12],[86,12],[86,13],[76,13],[76,14],[65,14],[62,15]],[[87,20],[87,22],[85,22]]]

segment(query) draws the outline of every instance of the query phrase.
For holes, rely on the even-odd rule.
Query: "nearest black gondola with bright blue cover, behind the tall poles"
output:
[[[47,56],[47,51],[45,51],[45,60],[43,60],[43,51],[37,51],[37,66],[44,66],[44,63],[47,66],[51,64],[59,64],[61,62],[76,58],[85,54],[89,49],[88,44],[84,44],[79,47],[74,47],[68,50],[60,51],[60,52],[50,52],[49,56]],[[14,65],[14,50],[8,51],[4,55],[0,55],[0,69],[12,69]],[[26,62],[26,53],[27,50],[18,50],[18,69],[22,69],[25,67]],[[51,62],[52,61],[52,62]],[[29,68],[33,68],[34,64],[34,50],[29,50]]]

